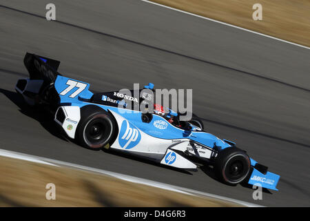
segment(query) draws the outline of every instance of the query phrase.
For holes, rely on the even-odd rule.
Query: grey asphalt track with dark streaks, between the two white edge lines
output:
[[[92,166],[265,206],[310,206],[310,50],[138,0],[0,1],[0,148]],[[93,90],[194,88],[210,133],[237,142],[281,175],[278,192],[227,186],[211,171],[183,173],[90,151],[56,133],[14,92],[25,52],[59,59],[59,71]]]

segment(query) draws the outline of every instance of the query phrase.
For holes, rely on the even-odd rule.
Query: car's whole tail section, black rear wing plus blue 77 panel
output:
[[[90,84],[64,77],[57,72],[60,61],[27,52],[23,63],[30,75],[28,79],[19,79],[17,82],[16,89],[23,95],[28,91],[27,96],[34,99],[36,95],[44,93],[41,96],[43,98],[48,93],[47,102],[57,97],[60,104],[79,102],[79,99],[90,99],[93,95],[88,90]],[[32,93],[31,96],[29,92]]]

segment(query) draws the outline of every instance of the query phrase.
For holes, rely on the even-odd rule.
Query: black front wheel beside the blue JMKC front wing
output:
[[[236,185],[247,177],[251,169],[249,156],[236,147],[225,148],[218,153],[214,169],[220,180]]]

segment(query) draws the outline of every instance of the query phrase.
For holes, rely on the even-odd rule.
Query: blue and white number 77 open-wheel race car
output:
[[[203,162],[212,165],[225,184],[278,191],[280,175],[269,172],[236,143],[207,133],[198,116],[182,121],[182,114],[149,102],[154,84],[139,89],[138,96],[121,91],[93,93],[90,84],[58,73],[60,61],[27,52],[24,64],[30,77],[17,81],[17,93],[30,106],[50,111],[61,130],[81,146],[117,149],[185,170],[197,170]],[[136,111],[141,104],[154,109]]]

